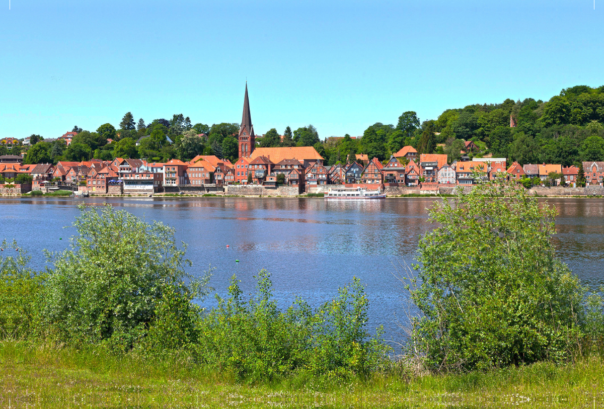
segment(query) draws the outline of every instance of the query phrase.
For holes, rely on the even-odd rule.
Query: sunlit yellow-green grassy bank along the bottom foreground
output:
[[[604,404],[600,358],[463,375],[373,375],[298,388],[301,379],[246,385],[186,361],[146,360],[82,351],[0,344],[0,405],[11,408],[198,407],[547,407]]]

